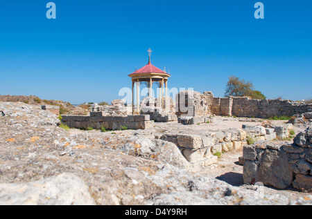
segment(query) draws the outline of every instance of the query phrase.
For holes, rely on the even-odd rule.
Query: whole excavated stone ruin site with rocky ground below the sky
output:
[[[57,109],[0,102],[0,204],[312,204],[312,104],[183,91],[139,113]]]

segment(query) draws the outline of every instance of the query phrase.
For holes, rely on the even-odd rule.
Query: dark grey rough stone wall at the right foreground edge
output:
[[[261,182],[277,189],[312,191],[312,128],[299,133],[293,144],[256,142],[243,148],[246,184]]]

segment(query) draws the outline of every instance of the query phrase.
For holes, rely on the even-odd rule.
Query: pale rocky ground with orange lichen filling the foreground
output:
[[[240,151],[194,169],[175,144],[155,139],[173,128],[221,130],[217,124],[232,122],[241,128],[238,119],[218,119],[65,131],[49,111],[0,102],[0,204],[312,204],[311,193],[243,185]]]

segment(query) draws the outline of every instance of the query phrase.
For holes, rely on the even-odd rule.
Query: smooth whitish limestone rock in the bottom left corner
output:
[[[4,205],[90,205],[95,204],[89,187],[73,173],[24,183],[0,184]]]

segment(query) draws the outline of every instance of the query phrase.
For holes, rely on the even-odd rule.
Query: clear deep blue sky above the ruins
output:
[[[0,94],[111,102],[147,64],[169,88],[223,97],[230,75],[268,98],[312,98],[312,1],[1,1]]]

